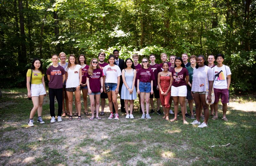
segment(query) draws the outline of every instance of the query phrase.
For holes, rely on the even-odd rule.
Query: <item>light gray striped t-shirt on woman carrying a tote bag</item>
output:
[[[213,81],[213,70],[208,67],[198,67],[193,71],[193,82],[191,91],[203,92],[206,91],[206,71],[208,74],[208,80]],[[209,87],[209,83],[208,87]]]

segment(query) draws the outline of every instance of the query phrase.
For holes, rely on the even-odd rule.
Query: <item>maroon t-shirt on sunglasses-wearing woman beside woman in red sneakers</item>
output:
[[[86,72],[85,75],[89,78],[90,89],[92,92],[100,92],[100,77],[102,77],[102,73],[100,68],[94,69],[92,75],[89,75],[88,72]]]

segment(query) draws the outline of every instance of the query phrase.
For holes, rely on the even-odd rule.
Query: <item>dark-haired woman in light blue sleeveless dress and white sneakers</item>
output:
[[[123,86],[121,91],[121,99],[124,99],[124,107],[126,111],[126,119],[133,119],[133,102],[137,99],[136,91],[134,91],[136,69],[131,58],[125,59],[124,69],[122,71]],[[130,115],[128,112],[128,102],[130,102]]]

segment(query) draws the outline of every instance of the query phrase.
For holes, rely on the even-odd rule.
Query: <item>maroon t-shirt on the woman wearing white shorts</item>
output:
[[[182,85],[187,86],[185,78],[186,78],[186,75],[188,75],[188,70],[186,69],[186,67],[182,67],[181,71],[177,75],[178,76],[176,77],[176,72],[173,68],[172,69],[172,77],[173,77],[172,86],[175,86],[175,87],[182,86]]]

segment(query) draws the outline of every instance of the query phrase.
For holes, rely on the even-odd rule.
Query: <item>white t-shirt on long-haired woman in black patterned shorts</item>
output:
[[[82,68],[80,65],[76,65],[74,70],[65,67],[65,71],[68,72],[68,79],[66,82],[66,88],[75,88],[79,85],[79,69]]]

